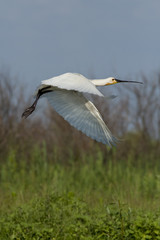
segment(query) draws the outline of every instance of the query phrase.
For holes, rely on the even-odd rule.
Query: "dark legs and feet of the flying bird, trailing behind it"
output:
[[[36,108],[37,106],[37,102],[39,100],[39,98],[44,94],[44,93],[47,93],[47,92],[51,92],[52,90],[47,90],[48,88],[50,88],[50,86],[47,86],[45,88],[42,88],[38,91],[37,93],[37,96],[36,96],[36,100],[34,101],[34,103],[29,107],[27,108],[23,114],[22,114],[22,118],[27,118]]]

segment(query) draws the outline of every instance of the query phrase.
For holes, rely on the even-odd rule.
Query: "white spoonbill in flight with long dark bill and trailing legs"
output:
[[[44,95],[55,111],[70,125],[88,137],[111,146],[115,144],[116,138],[111,134],[97,108],[83,94],[90,93],[104,97],[96,86],[120,82],[141,83],[118,80],[113,77],[91,80],[78,73],[65,73],[43,80],[36,91],[34,103],[24,111],[22,117],[27,118],[35,110],[39,98]]]

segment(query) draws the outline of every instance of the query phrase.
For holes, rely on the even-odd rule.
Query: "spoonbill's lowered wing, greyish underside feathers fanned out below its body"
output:
[[[97,108],[81,93],[57,89],[45,96],[55,111],[72,126],[98,142],[114,144],[115,138]]]

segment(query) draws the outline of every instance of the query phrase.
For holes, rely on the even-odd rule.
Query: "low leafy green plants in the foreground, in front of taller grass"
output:
[[[72,192],[49,194],[0,220],[1,239],[160,239],[160,212],[90,206]]]

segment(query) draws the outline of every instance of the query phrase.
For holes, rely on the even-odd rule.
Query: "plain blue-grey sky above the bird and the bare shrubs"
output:
[[[0,0],[0,65],[30,86],[160,70],[160,0]]]

